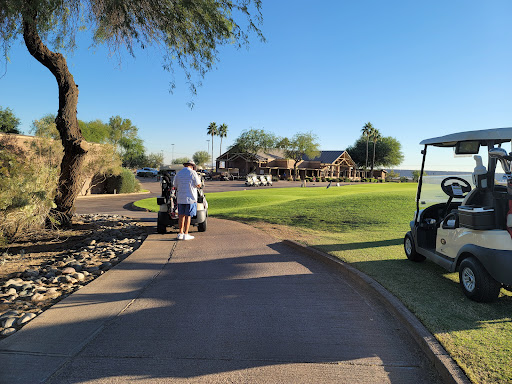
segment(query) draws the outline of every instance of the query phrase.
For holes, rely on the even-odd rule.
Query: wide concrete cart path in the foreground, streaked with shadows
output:
[[[150,235],[0,342],[0,383],[437,383],[401,323],[252,227]]]

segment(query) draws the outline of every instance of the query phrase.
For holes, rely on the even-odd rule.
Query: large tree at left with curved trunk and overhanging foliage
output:
[[[156,46],[164,68],[181,67],[194,92],[192,74],[202,77],[215,65],[220,45],[246,44],[250,32],[263,39],[261,21],[261,0],[0,1],[5,58],[22,37],[30,54],[57,80],[55,124],[64,156],[55,203],[63,224],[71,221],[88,147],[77,120],[78,87],[62,54],[75,47],[76,34],[92,31],[94,44],[108,44],[112,51],[126,48],[132,55],[137,47]]]

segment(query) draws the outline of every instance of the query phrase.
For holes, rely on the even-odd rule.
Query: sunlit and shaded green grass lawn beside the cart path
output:
[[[468,300],[458,275],[413,263],[403,236],[415,210],[416,184],[364,184],[209,193],[211,216],[286,225],[308,243],[372,276],[437,337],[476,383],[512,382],[512,297]],[[157,210],[156,199],[139,206]]]

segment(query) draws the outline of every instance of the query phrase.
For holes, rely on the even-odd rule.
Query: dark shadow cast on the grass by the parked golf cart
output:
[[[335,252],[399,245],[402,239],[366,243],[321,245],[315,248]],[[464,296],[458,273],[448,273],[425,261],[415,263],[400,258],[349,262],[397,296],[433,333],[499,327],[512,337],[512,296],[504,294],[492,303],[477,303]],[[487,331],[486,331],[487,332]],[[491,331],[492,332],[492,331]]]

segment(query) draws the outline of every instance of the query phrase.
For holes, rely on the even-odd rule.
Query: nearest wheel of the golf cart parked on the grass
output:
[[[496,300],[500,294],[501,284],[489,275],[475,257],[462,260],[459,280],[462,291],[471,300],[489,303]]]

